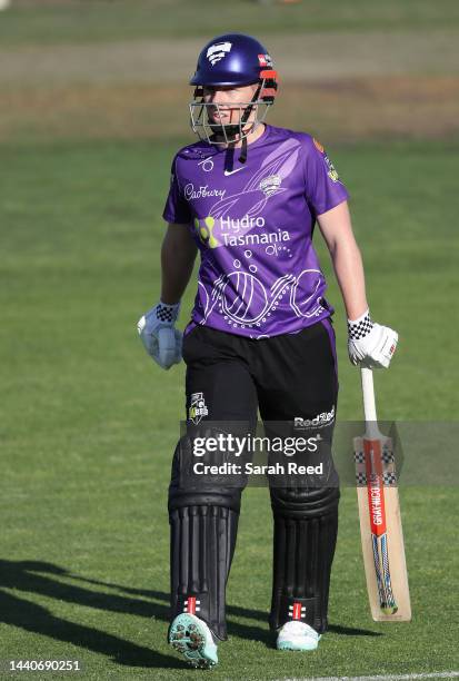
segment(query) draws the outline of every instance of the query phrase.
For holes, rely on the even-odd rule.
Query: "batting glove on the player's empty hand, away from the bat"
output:
[[[180,303],[167,305],[160,302],[137,323],[147,353],[164,369],[181,359],[182,334],[174,327],[179,309]]]

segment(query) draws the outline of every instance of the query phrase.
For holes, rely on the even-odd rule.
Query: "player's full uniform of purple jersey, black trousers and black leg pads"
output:
[[[289,434],[312,428],[322,443],[331,442],[338,394],[332,309],[323,297],[312,231],[318,215],[348,198],[309,135],[267,126],[248,146],[246,164],[239,152],[202,141],[179,151],[163,213],[167,221],[189,226],[201,254],[183,338],[189,436],[177,445],[169,487],[171,606],[173,615],[199,615],[220,640],[227,638],[224,589],[246,482],[235,486],[210,476],[203,488],[199,476],[189,474],[191,433],[202,428],[207,436],[206,428],[213,433],[219,423],[223,432],[241,424],[251,432],[259,411],[270,436],[278,427],[282,434],[285,425]],[[224,456],[216,452],[210,463]],[[277,486],[271,478],[269,485],[270,626],[276,632],[297,619],[321,633],[338,476],[332,461],[323,458],[323,476],[315,485]]]

